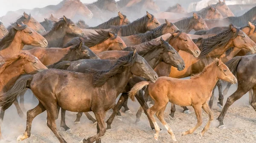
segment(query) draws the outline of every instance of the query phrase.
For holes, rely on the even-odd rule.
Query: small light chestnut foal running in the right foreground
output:
[[[154,105],[147,109],[147,112],[155,126],[155,140],[158,139],[160,128],[154,118],[154,114],[166,127],[172,140],[176,141],[172,129],[164,120],[164,110],[166,109],[168,102],[180,106],[192,106],[195,110],[197,124],[195,127],[183,132],[182,135],[192,134],[195,129],[202,125],[203,119],[201,108],[203,108],[204,111],[209,115],[209,120],[206,126],[199,134],[200,136],[203,136],[204,133],[209,129],[210,123],[213,120],[213,114],[209,108],[209,105],[207,104],[207,101],[211,97],[212,90],[219,79],[231,82],[232,84],[237,82],[236,77],[230,72],[228,67],[221,62],[221,60],[216,58],[211,64],[204,67],[204,70],[201,73],[192,76],[191,79],[159,77],[154,83],[142,81],[135,84],[135,86],[129,92],[129,96],[131,100],[134,101],[134,96],[137,94],[137,92],[145,85],[148,86],[145,94],[147,94],[147,96],[150,95],[150,97],[155,101]]]

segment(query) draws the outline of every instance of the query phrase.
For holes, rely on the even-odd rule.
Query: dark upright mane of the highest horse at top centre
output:
[[[118,31],[121,30],[122,36],[130,36],[140,33],[140,31],[148,31],[147,24],[153,21],[154,15],[151,14],[151,17],[152,18],[149,19],[148,16],[145,15],[128,25],[111,26],[111,31],[118,33]]]

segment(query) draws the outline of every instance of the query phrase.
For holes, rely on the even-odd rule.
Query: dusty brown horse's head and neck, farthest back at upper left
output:
[[[23,13],[23,15],[16,20],[16,22],[11,23],[11,25],[16,25],[16,23],[21,24],[24,23],[25,25],[28,25],[33,30],[37,31],[38,33],[45,32],[44,27],[35,20],[30,14],[26,14],[26,12]],[[7,28],[9,31],[9,28]]]

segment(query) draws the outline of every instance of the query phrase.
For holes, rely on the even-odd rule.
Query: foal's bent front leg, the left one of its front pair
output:
[[[195,125],[195,127],[189,129],[186,132],[183,132],[181,135],[192,134],[195,131],[195,129],[197,129],[203,123],[203,119],[202,119],[202,105],[196,105],[196,106],[193,106],[193,108],[195,109],[195,115],[196,115],[196,118],[198,120],[197,124]]]

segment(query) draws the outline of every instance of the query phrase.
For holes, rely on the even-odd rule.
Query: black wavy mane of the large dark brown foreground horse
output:
[[[124,67],[131,67],[138,56],[137,53],[135,53],[134,56],[133,54],[133,52],[130,52],[128,55],[120,57],[116,61],[116,64],[114,64],[109,70],[97,71],[93,76],[93,86],[102,86],[117,73],[121,73],[124,70]]]

